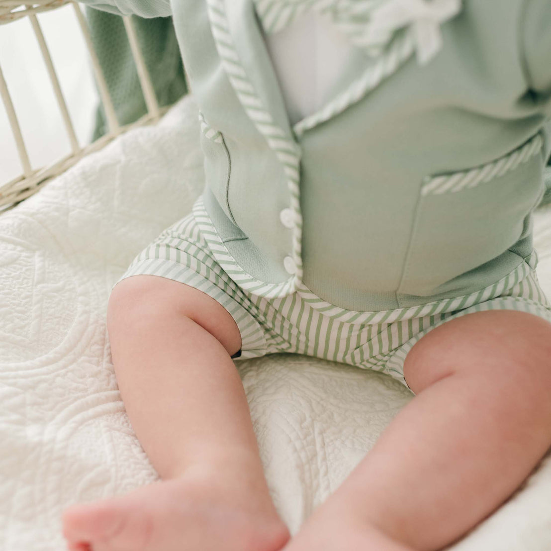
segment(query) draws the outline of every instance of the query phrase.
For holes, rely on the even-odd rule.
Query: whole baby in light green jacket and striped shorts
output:
[[[90,0],[172,15],[206,184],[107,312],[161,481],[64,513],[71,551],[437,550],[551,445],[532,210],[551,0]],[[547,126],[546,126],[547,125]],[[234,359],[291,352],[415,394],[290,537]]]

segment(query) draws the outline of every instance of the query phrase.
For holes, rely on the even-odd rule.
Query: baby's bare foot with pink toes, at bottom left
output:
[[[277,551],[289,532],[264,504],[236,505],[213,480],[180,478],[76,505],[63,514],[70,551]],[[228,495],[229,494],[229,495]]]

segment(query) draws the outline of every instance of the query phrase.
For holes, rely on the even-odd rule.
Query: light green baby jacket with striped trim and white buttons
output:
[[[275,297],[304,284],[380,311],[510,286],[533,268],[551,150],[549,0],[464,0],[424,65],[397,31],[294,128],[252,0],[113,1],[87,3],[174,17],[203,117],[199,222],[241,287]]]

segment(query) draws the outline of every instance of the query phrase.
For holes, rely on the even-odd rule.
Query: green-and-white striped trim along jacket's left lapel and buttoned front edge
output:
[[[229,254],[228,250],[220,243],[216,244],[212,237],[214,252],[217,259],[224,262],[230,269],[231,277],[238,281],[242,288],[250,290],[261,296],[279,296],[292,293],[296,290],[302,280],[302,214],[300,210],[300,148],[296,142],[287,137],[287,134],[273,120],[270,112],[264,107],[260,96],[257,94],[250,79],[247,77],[242,66],[239,55],[235,49],[233,37],[231,36],[228,18],[225,12],[224,0],[207,0],[208,15],[214,41],[218,50],[220,60],[237,98],[245,109],[247,115],[255,124],[258,132],[266,139],[269,147],[276,154],[283,166],[287,177],[287,187],[290,196],[290,208],[294,214],[294,226],[292,229],[292,249],[290,257],[295,265],[295,273],[282,284],[268,284],[259,282],[257,279],[246,273],[243,268]],[[203,225],[207,225],[204,218],[199,214]],[[208,217],[207,217],[208,218]],[[211,223],[212,225],[212,223]],[[209,244],[210,245],[210,244]]]

